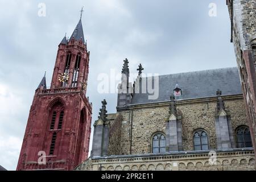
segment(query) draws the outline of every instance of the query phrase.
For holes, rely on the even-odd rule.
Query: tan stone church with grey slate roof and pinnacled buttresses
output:
[[[76,170],[255,170],[237,68],[159,76],[150,100],[142,91],[150,77],[140,65],[131,86],[128,63],[117,113],[107,115],[102,101],[91,156]]]

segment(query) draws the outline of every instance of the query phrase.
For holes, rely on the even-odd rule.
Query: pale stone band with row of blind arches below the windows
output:
[[[250,171],[255,170],[250,150],[216,151],[216,163],[209,163],[208,152],[167,155],[126,155],[89,158],[75,170],[81,171]]]

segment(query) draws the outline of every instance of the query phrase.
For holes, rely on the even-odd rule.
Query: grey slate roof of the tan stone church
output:
[[[148,93],[135,93],[131,104],[170,101],[176,84],[179,84],[182,92],[182,96],[176,98],[177,100],[214,97],[218,89],[222,91],[222,95],[242,94],[238,69],[221,68],[159,76],[159,97],[156,100],[148,100]]]

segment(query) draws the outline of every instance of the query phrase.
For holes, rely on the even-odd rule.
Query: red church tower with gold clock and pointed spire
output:
[[[59,44],[51,87],[47,89],[44,76],[35,90],[17,170],[72,170],[88,158],[89,55],[80,18],[71,38],[65,36]]]

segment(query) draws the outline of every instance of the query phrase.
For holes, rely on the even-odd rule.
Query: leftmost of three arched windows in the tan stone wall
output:
[[[163,134],[155,134],[154,137],[152,138],[152,152],[166,152],[166,137],[164,137]]]

